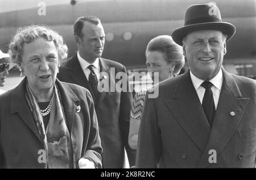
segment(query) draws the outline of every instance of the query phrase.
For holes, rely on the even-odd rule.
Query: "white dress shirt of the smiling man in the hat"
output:
[[[193,83],[193,86],[195,87],[196,93],[199,97],[199,100],[202,104],[203,102],[203,98],[204,98],[204,93],[205,93],[205,89],[203,86],[201,86],[201,83],[204,82],[204,80],[199,79],[197,77],[195,77],[191,71],[190,71],[190,77],[191,77],[191,81]],[[215,105],[215,109],[217,109],[217,105],[218,105],[218,99],[220,98],[220,91],[221,91],[221,86],[222,86],[222,82],[223,82],[223,74],[222,74],[222,70],[220,69],[220,71],[218,72],[218,74],[210,79],[210,82],[212,82],[213,86],[210,87],[210,89],[212,89],[212,94],[213,94],[213,100],[214,100],[214,105]]]

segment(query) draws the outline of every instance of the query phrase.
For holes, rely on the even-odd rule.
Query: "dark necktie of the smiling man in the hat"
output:
[[[215,105],[214,105],[214,100],[213,100],[213,94],[212,94],[212,83],[209,81],[204,81],[201,86],[204,87],[205,93],[204,93],[204,98],[202,102],[202,106],[204,109],[204,113],[207,116],[208,122],[210,126],[212,126],[212,122],[215,116]]]

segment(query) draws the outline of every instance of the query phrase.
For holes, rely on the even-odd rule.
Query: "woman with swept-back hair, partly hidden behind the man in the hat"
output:
[[[146,48],[146,59],[147,72],[150,73],[154,83],[177,76],[185,62],[182,47],[167,35],[157,36],[150,40]],[[131,107],[128,142],[132,149],[137,149],[145,96],[146,91],[136,93]]]

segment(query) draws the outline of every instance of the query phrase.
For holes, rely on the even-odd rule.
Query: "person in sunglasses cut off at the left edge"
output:
[[[9,54],[3,53],[0,50],[0,87],[2,87],[5,84],[6,77],[9,74]],[[0,94],[5,93],[4,90],[0,89]]]

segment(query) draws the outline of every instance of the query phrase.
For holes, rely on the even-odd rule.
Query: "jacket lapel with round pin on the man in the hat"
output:
[[[217,156],[222,152],[237,131],[243,112],[250,100],[249,98],[242,98],[232,75],[224,69],[222,69],[222,72],[224,81],[221,87],[220,99],[218,101],[209,142],[200,161],[199,168],[207,168],[210,165],[208,162],[210,156],[208,152],[210,149],[216,150]]]

